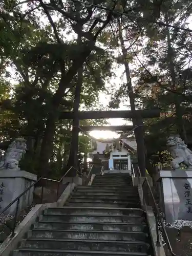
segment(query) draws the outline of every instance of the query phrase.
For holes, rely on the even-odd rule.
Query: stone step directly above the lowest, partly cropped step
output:
[[[78,240],[78,239],[26,239],[21,248],[63,249],[63,250],[98,250],[98,251],[126,251],[147,252],[148,244],[144,242],[108,241],[108,240]]]

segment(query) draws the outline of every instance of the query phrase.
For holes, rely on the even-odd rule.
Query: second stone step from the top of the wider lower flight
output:
[[[43,215],[39,217],[39,221],[50,222],[99,222],[99,223],[138,223],[145,224],[146,220],[141,216],[102,216],[102,215]]]

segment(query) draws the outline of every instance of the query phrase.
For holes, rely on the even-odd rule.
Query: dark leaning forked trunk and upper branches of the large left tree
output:
[[[62,98],[66,96],[66,90],[71,88],[71,81],[74,75],[77,73],[84,61],[86,61],[90,53],[93,50],[97,49],[95,47],[97,36],[105,28],[105,26],[108,25],[109,20],[111,19],[111,14],[107,14],[106,19],[103,21],[102,19],[98,19],[93,16],[94,11],[92,7],[86,8],[85,11],[84,8],[82,8],[81,4],[77,4],[76,2],[73,4],[73,2],[71,1],[66,2],[66,6],[60,3],[57,4],[56,2],[54,2],[54,4],[52,4],[51,2],[44,4],[42,1],[40,1],[40,7],[49,19],[49,22],[55,34],[55,38],[57,40],[57,45],[59,45],[59,54],[61,54],[61,58],[58,59],[61,76],[58,81],[58,89],[52,96],[51,111],[49,112],[46,121],[46,129],[44,132],[44,137],[42,139],[40,151],[41,162],[39,168],[45,170],[48,167],[48,162],[51,157],[53,135],[59,116],[59,106],[61,104]],[[66,11],[66,8],[68,8],[68,11]],[[82,37],[81,46],[79,46],[79,44],[74,44],[72,47],[68,47],[63,43],[63,40],[60,39],[61,36],[59,35],[58,30],[56,29],[56,25],[53,22],[51,16],[51,14],[56,13],[61,15],[61,19],[69,20],[73,31],[78,34],[78,36]],[[87,30],[84,30],[84,25],[86,23],[89,23],[91,27],[88,29],[86,28]],[[96,25],[98,23],[100,23],[101,25],[100,27],[98,27],[98,29],[96,29]],[[95,29],[96,31],[94,31]],[[68,69],[66,69],[66,59],[63,59],[62,57],[62,53],[65,54],[66,51],[69,54],[68,57],[70,60],[70,65]],[[76,54],[77,52],[78,57]]]

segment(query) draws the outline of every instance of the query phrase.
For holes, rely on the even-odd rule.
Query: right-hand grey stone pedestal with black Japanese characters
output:
[[[160,170],[158,181],[166,223],[192,221],[192,171]]]

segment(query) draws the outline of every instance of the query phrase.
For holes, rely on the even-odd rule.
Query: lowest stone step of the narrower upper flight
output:
[[[82,199],[83,200],[83,199]],[[66,202],[65,203],[66,206],[96,206],[96,207],[122,207],[122,208],[126,208],[126,207],[139,207],[140,203],[135,203],[135,202],[124,202],[124,203],[116,203],[116,202],[109,202],[109,203],[105,203],[105,202],[101,202],[101,203],[95,203],[95,202]]]

